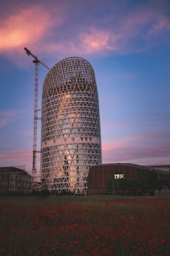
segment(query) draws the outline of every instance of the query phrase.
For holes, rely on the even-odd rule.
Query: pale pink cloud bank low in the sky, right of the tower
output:
[[[146,165],[154,165],[154,162],[169,164],[169,135],[169,132],[148,132],[104,144],[102,146],[103,161],[142,162]]]

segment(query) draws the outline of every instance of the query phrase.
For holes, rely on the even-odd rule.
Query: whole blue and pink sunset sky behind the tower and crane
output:
[[[70,56],[93,66],[103,163],[170,164],[169,0],[0,2],[0,166],[29,171],[34,64],[24,47],[48,67]],[[39,108],[47,71],[39,65]],[[40,121],[38,138],[40,149]]]

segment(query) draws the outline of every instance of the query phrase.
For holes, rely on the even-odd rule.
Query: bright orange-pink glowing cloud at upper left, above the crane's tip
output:
[[[0,50],[30,45],[39,40],[49,26],[50,15],[38,6],[11,15],[0,25]]]

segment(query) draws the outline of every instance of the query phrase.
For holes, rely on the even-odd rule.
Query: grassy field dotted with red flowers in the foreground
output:
[[[0,255],[170,255],[170,197],[0,197]]]

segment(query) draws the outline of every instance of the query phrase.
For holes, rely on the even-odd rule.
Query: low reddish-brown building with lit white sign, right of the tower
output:
[[[133,180],[140,173],[147,176],[148,172],[156,173],[159,181],[169,181],[169,172],[152,167],[126,163],[94,165],[90,167],[88,173],[88,195],[109,193],[106,186],[109,178],[126,177],[128,180]]]

